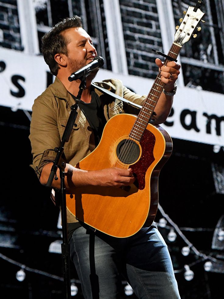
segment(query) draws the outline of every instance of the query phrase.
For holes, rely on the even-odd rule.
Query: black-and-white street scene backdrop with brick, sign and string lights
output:
[[[62,298],[60,213],[33,170],[34,99],[53,82],[40,38],[79,15],[105,64],[96,77],[148,94],[190,0],[0,0],[1,297]],[[178,56],[181,74],[163,128],[173,153],[159,176],[156,222],[181,298],[222,299],[224,273],[224,2],[204,0],[201,31]],[[75,269],[72,295],[83,298]],[[108,279],[110,279],[108,277]],[[123,281],[123,298],[136,298]]]

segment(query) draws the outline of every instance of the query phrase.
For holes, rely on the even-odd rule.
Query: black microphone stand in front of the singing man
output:
[[[75,100],[75,104],[71,106],[71,113],[68,118],[68,122],[65,126],[65,131],[62,136],[61,145],[55,147],[54,151],[57,153],[53,165],[51,167],[51,173],[49,175],[46,186],[51,187],[53,179],[58,180],[57,169],[60,171],[61,179],[61,223],[62,223],[62,244],[61,244],[61,254],[63,263],[63,276],[64,276],[64,295],[65,299],[71,298],[71,279],[70,279],[70,247],[68,244],[68,230],[67,230],[67,207],[66,207],[66,187],[65,187],[65,162],[61,162],[61,156],[64,151],[65,142],[68,142],[69,137],[72,132],[72,128],[75,125],[75,120],[77,117],[78,104],[80,102],[82,92],[86,88],[86,77],[91,72],[87,69],[81,79],[81,84],[79,85],[79,92]]]

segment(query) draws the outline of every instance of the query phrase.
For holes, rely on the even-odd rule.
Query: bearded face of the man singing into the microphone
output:
[[[65,38],[68,40],[67,67],[72,74],[87,65],[97,56],[96,49],[89,34],[80,27],[65,30]],[[91,72],[88,78],[93,79],[99,69]]]

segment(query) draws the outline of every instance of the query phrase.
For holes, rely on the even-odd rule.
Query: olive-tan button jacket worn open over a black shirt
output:
[[[138,105],[142,105],[146,97],[128,90],[117,79],[95,82],[95,84]],[[107,121],[112,116],[120,113],[136,114],[135,108],[130,105],[103,94],[95,87],[94,90],[100,98]],[[34,101],[29,136],[33,164],[30,166],[34,169],[38,178],[40,178],[43,167],[55,159],[54,148],[61,145],[62,135],[73,104],[75,104],[74,99],[57,77],[54,83]],[[76,126],[73,126],[70,138],[64,146],[65,162],[73,166],[95,149],[93,131],[81,109],[78,108],[77,112]],[[67,214],[68,222],[77,221],[68,211]]]

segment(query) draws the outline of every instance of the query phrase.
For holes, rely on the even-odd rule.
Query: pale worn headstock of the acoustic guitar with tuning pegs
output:
[[[191,38],[195,28],[197,28],[198,23],[205,14],[197,7],[197,5],[195,7],[189,6],[187,12],[184,13],[184,19],[180,19],[182,22],[180,26],[176,27],[177,32],[175,33],[174,39],[174,44],[177,44],[181,47]]]

